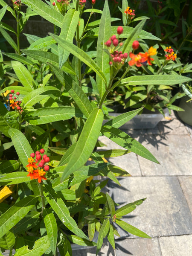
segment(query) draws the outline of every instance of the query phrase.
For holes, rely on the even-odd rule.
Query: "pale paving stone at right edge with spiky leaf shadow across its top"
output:
[[[142,175],[192,175],[192,139],[188,135],[169,135],[166,139],[156,137],[138,137],[160,162],[160,165],[138,156]]]

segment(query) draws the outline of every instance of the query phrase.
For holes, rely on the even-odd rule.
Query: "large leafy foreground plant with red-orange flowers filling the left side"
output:
[[[5,41],[15,49],[15,53],[4,52],[0,59],[1,254],[8,249],[9,256],[14,250],[15,256],[51,256],[58,251],[61,256],[73,255],[71,243],[96,246],[98,254],[105,237],[115,250],[114,235],[119,234],[114,223],[150,238],[122,220],[146,198],[116,209],[110,195],[102,192],[108,179],[120,185],[118,176],[130,176],[105,158],[133,152],[158,163],[143,145],[119,129],[141,108],[102,125],[108,115],[104,103],[116,86],[130,81],[160,85],[169,77],[169,85],[173,85],[191,79],[172,74],[128,76],[133,67],[127,61],[133,56],[133,42],[158,38],[142,30],[145,17],[134,28],[111,26],[108,1],[102,12],[93,8],[94,3],[92,0],[92,9],[86,9],[84,0],[17,0],[12,9],[0,0],[0,17],[10,12],[18,25],[16,32],[5,23],[0,27]],[[122,3],[125,9],[128,3]],[[26,12],[21,11],[22,4],[28,6]],[[20,49],[19,35],[32,15],[54,24],[55,33],[45,38],[27,35],[30,46]],[[90,23],[93,17],[97,20]],[[17,43],[6,29],[14,32]],[[150,49],[139,61],[142,66],[145,61],[151,63]],[[88,87],[90,83],[92,87]],[[97,145],[102,146],[100,135],[124,149],[97,151]],[[8,159],[10,148],[15,154]],[[94,163],[86,165],[89,159]],[[98,175],[102,179],[94,179]],[[92,241],[95,231],[99,233],[97,243]]]

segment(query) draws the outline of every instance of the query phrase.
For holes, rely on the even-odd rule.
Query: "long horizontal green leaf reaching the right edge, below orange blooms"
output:
[[[165,84],[174,85],[191,81],[189,77],[180,75],[145,75],[145,76],[130,76],[122,79],[120,85],[144,85],[144,84]]]

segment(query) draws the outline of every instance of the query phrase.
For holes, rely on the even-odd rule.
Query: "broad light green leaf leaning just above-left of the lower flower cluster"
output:
[[[30,154],[33,152],[28,140],[21,131],[14,128],[9,129],[9,135],[12,138],[13,145],[21,163],[24,168],[27,169],[26,165],[28,165],[28,157],[30,157]]]

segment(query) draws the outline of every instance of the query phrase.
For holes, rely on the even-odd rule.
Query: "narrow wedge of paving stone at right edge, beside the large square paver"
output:
[[[178,179],[192,214],[192,176],[181,176]]]

